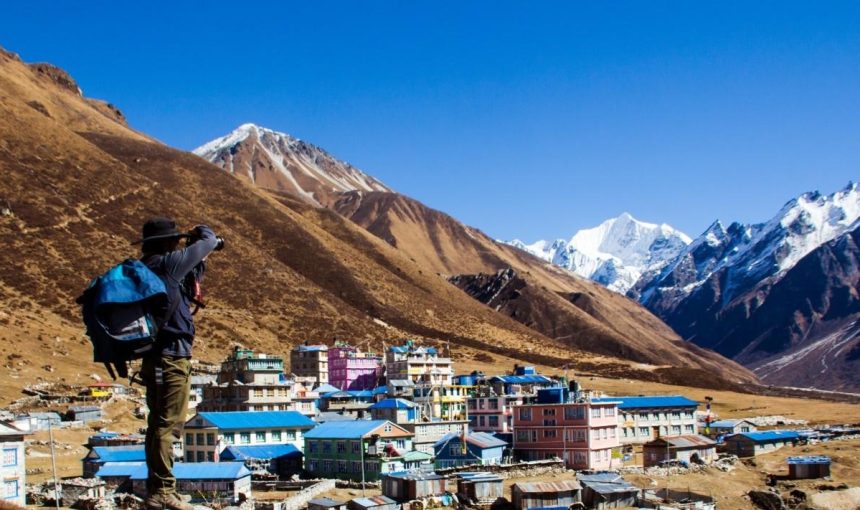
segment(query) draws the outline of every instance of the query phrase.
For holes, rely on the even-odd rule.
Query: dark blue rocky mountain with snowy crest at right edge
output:
[[[715,222],[629,295],[766,382],[860,390],[848,368],[858,218],[860,191],[850,184],[801,195],[766,223]]]

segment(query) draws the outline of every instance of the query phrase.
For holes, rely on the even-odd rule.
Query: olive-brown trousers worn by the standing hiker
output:
[[[150,494],[176,491],[173,442],[181,438],[191,392],[191,360],[175,356],[147,356],[140,369],[146,386],[149,417],[146,426],[146,467]]]

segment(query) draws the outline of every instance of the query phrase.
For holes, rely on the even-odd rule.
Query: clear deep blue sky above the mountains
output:
[[[857,180],[857,2],[15,2],[0,45],[193,149],[254,122],[499,238],[697,235]]]

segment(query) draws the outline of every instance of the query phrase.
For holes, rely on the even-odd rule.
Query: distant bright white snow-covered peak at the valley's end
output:
[[[638,221],[628,213],[580,230],[569,240],[509,244],[538,258],[625,293],[642,274],[659,271],[690,244],[669,225]]]

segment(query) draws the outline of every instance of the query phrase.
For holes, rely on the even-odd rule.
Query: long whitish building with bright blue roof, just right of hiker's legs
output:
[[[186,462],[214,462],[227,446],[291,444],[304,448],[303,435],[317,423],[297,411],[197,413],[185,422]]]

